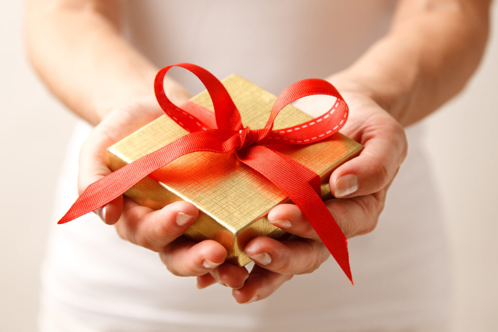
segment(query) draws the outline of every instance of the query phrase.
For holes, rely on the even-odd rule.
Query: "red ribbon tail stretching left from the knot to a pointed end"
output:
[[[197,151],[230,151],[236,146],[238,138],[231,135],[229,131],[203,130],[180,137],[92,183],[57,223],[74,220],[103,207],[153,171],[182,155]]]

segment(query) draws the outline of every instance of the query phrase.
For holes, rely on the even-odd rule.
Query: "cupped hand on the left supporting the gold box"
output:
[[[162,114],[153,98],[135,99],[110,111],[81,148],[80,194],[88,185],[111,173],[106,151],[109,146]],[[246,269],[227,267],[229,264],[224,263],[227,251],[218,242],[195,243],[182,236],[198,215],[191,203],[175,202],[153,211],[120,196],[96,213],[107,224],[114,224],[123,239],[158,252],[162,262],[175,275],[198,276],[217,273],[218,269],[229,270],[224,282],[234,288],[241,287],[247,278]]]

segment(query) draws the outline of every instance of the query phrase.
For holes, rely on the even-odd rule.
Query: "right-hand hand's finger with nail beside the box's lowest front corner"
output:
[[[323,243],[303,238],[280,242],[259,236],[244,250],[254,263],[280,274],[311,273],[330,256]]]

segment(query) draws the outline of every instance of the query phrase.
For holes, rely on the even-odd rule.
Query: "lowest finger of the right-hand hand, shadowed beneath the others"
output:
[[[239,303],[253,303],[267,298],[291,278],[292,275],[268,271],[256,265],[249,273],[244,286],[240,289],[234,289],[232,296]]]

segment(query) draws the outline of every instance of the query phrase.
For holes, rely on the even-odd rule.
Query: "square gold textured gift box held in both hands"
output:
[[[276,97],[237,75],[222,83],[239,109],[243,124],[262,128]],[[191,101],[213,110],[207,91]],[[308,114],[287,106],[277,116],[274,128],[310,119]],[[110,167],[114,171],[185,134],[186,130],[163,115],[111,146],[108,150]],[[358,155],[362,148],[361,144],[337,133],[313,145],[282,145],[278,151],[320,175],[325,200],[332,198],[329,188],[332,171]],[[196,241],[220,242],[229,253],[228,261],[240,266],[250,261],[244,252],[250,239],[260,235],[277,238],[284,233],[268,222],[266,215],[277,204],[290,202],[271,182],[239,162],[233,153],[212,152],[184,155],[141,180],[125,195],[154,210],[179,200],[192,202],[199,208],[199,218],[185,235]]]

